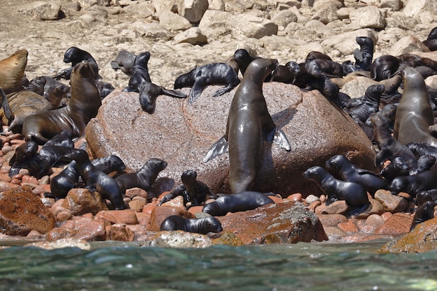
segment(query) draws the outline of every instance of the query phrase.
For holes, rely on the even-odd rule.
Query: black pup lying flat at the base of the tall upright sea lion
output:
[[[202,212],[212,216],[224,216],[228,212],[253,210],[272,203],[274,201],[265,193],[243,191],[218,197],[213,202],[205,204]]]

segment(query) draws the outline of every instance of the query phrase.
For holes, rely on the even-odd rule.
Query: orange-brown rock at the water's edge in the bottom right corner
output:
[[[437,218],[418,224],[397,240],[385,244],[379,253],[424,253],[437,248]]]

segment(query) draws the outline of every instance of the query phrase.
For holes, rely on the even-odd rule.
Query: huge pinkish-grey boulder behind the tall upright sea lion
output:
[[[96,119],[87,126],[91,156],[119,156],[128,170],[139,169],[149,158],[168,162],[154,183],[159,194],[180,184],[182,172],[195,169],[198,180],[215,193],[229,193],[228,154],[203,163],[209,148],[225,133],[225,124],[235,89],[212,97],[217,86],[206,87],[193,105],[188,100],[159,96],[154,114],[141,111],[138,94],[116,89],[107,96]],[[325,165],[335,154],[373,170],[372,144],[355,122],[327,101],[318,91],[304,92],[282,83],[265,83],[267,107],[277,126],[286,133],[291,151],[263,143],[262,162],[253,190],[280,193],[321,193],[302,177],[313,165]],[[189,89],[182,91],[189,94]]]

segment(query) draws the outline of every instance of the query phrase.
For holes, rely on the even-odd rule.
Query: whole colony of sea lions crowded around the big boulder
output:
[[[429,129],[434,125],[436,94],[424,85],[423,80],[427,75],[437,73],[437,62],[413,54],[398,57],[385,55],[373,60],[373,40],[358,37],[356,41],[360,45],[360,50],[354,52],[355,63],[345,61],[343,64],[332,61],[329,56],[320,52],[310,52],[302,64],[290,61],[285,66],[278,66],[274,59],[251,57],[246,50],[240,49],[223,63],[198,67],[177,77],[173,90],[158,87],[151,82],[147,68],[147,61],[151,57],[149,52],[135,55],[132,52],[121,51],[112,61],[111,66],[115,70],[123,70],[130,76],[124,91],[138,92],[140,106],[149,114],[153,114],[156,106],[154,101],[161,94],[186,98],[185,94],[176,90],[182,87],[193,87],[187,98],[191,105],[200,96],[202,87],[208,84],[225,86],[217,91],[214,97],[239,86],[235,93],[235,100],[232,101],[235,105],[230,107],[226,133],[221,140],[212,145],[208,153],[205,153],[204,159],[207,163],[215,156],[230,152],[230,184],[232,184],[232,193],[235,194],[251,193],[247,191],[251,191],[258,167],[262,167],[259,165],[259,144],[262,140],[275,142],[283,149],[290,150],[286,135],[280,128],[276,128],[269,116],[265,98],[262,96],[262,82],[286,82],[302,89],[316,89],[331,101],[332,106],[341,108],[362,126],[378,147],[376,166],[385,163],[386,168],[380,173],[373,173],[360,169],[344,157],[334,156],[327,161],[327,170],[323,167],[311,167],[302,173],[303,176],[316,181],[327,194],[329,203],[346,200],[350,206],[351,216],[367,207],[369,200],[366,193],[373,195],[378,188],[391,190],[394,195],[407,193],[408,199],[411,200],[416,196],[421,197],[420,204],[417,203],[419,207],[417,216],[423,217],[417,217],[415,221],[417,223],[424,221],[429,219],[430,205],[437,204],[435,195],[424,195],[424,191],[437,188],[437,185],[432,183],[437,180],[435,179],[437,170],[434,167],[436,158],[433,156],[437,153],[437,148],[434,147],[436,145],[434,130]],[[57,199],[65,197],[68,189],[77,186],[82,177],[84,187],[90,191],[102,192],[103,197],[108,198],[115,209],[125,209],[123,193],[129,187],[126,185],[140,184],[149,187],[158,173],[165,169],[165,161],[155,159],[153,161],[158,161],[157,167],[146,164],[137,174],[121,174],[115,179],[106,173],[108,170],[96,167],[98,161],[89,161],[85,151],[73,149],[71,141],[84,135],[84,127],[96,116],[101,100],[112,91],[113,87],[111,89],[110,84],[102,86],[103,81],[99,80],[95,59],[91,54],[77,47],[68,48],[65,54],[64,61],[71,62],[71,68],[62,69],[52,77],[40,76],[29,81],[24,77],[27,54],[27,50],[19,50],[9,58],[0,60],[3,126],[9,126],[8,129],[14,133],[22,133],[26,140],[22,147],[17,148],[15,156],[10,161],[13,163],[11,172],[27,168],[38,178],[50,173],[50,167],[55,163],[71,161],[64,172],[54,177],[56,179],[52,179],[52,193],[47,195]],[[242,73],[242,80],[237,77],[238,72]],[[346,94],[340,94],[341,79],[358,75],[370,77],[380,84],[369,87],[362,98],[351,99]],[[65,84],[59,89],[59,83],[56,82],[61,78],[71,79],[69,90],[65,88]],[[390,80],[394,81],[388,83]],[[58,87],[53,84],[57,84]],[[397,90],[401,85],[403,94]],[[49,90],[53,88],[64,94],[50,93]],[[105,94],[102,94],[103,89],[107,90]],[[49,100],[47,96],[51,99]],[[400,98],[400,96],[405,97]],[[62,102],[59,101],[61,99]],[[55,106],[39,105],[40,100],[47,100],[49,105],[55,104]],[[415,107],[411,105],[413,103],[419,105]],[[394,112],[396,112],[395,119]],[[417,112],[421,113],[417,114]],[[258,124],[255,128],[247,125],[252,121]],[[410,133],[417,133],[417,137]],[[70,141],[67,142],[68,145],[64,146],[63,142],[59,144],[55,142],[53,145],[53,140],[62,135]],[[242,146],[242,142],[246,142],[246,145]],[[36,152],[36,143],[42,144],[44,150]],[[419,143],[427,147],[427,151],[415,151]],[[122,161],[117,162],[117,166],[111,167],[108,157],[103,165],[109,165],[109,172],[123,171]],[[147,163],[151,162],[152,160]],[[399,164],[402,166],[396,167]],[[390,174],[387,174],[389,170]],[[133,177],[135,183],[134,181],[131,183]],[[142,181],[142,177],[147,181]],[[129,181],[129,183],[121,183],[121,181]],[[188,182],[186,182],[175,187],[163,198],[161,204],[177,195],[184,196],[186,207],[190,207],[192,202],[205,204],[209,197],[223,196],[223,194],[212,193],[205,184],[195,181],[195,176],[189,183],[192,186],[187,186]],[[201,194],[200,188],[202,188]],[[349,188],[357,188],[359,191],[348,191]],[[251,195],[262,195],[268,199],[267,194],[252,193]],[[229,198],[227,202],[219,204],[221,209],[216,209],[217,212],[214,213],[223,215],[232,211],[230,205],[237,202],[232,201],[232,195],[226,196]],[[238,199],[244,201],[241,197]],[[262,204],[266,202],[247,203],[246,208],[253,209]],[[421,210],[420,207],[426,207],[427,210]],[[210,208],[211,206],[205,205],[205,212],[209,212]],[[238,211],[246,208],[240,205]]]

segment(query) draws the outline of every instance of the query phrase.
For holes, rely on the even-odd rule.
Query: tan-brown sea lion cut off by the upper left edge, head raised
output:
[[[0,87],[6,94],[22,89],[28,54],[27,50],[17,50],[10,57],[0,60]]]

